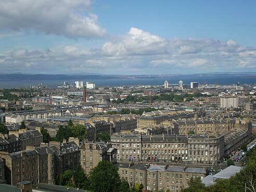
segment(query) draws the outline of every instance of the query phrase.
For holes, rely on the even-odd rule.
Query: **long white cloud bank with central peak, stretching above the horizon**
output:
[[[41,73],[171,74],[256,70],[256,47],[233,40],[165,39],[137,28],[98,49],[79,45],[0,54],[1,70]],[[33,67],[32,67],[33,66]],[[25,70],[25,71],[24,71]]]

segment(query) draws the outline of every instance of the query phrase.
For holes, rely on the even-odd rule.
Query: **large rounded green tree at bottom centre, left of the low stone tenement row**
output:
[[[109,161],[101,161],[98,166],[90,173],[91,190],[93,192],[118,191],[120,177],[118,168]]]

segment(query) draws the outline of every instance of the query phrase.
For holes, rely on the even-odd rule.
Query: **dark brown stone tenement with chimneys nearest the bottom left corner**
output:
[[[5,180],[7,184],[16,185],[21,181],[32,184],[55,184],[54,153],[48,147],[30,147],[20,152],[8,154],[0,152],[5,162]]]

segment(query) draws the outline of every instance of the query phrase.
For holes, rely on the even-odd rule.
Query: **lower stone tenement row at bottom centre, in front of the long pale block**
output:
[[[206,169],[158,164],[118,163],[119,175],[126,179],[130,186],[141,183],[144,190],[180,191],[188,187],[191,178],[204,177]]]

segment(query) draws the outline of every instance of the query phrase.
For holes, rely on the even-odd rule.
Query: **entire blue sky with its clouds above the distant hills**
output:
[[[0,1],[0,73],[256,72],[256,1]]]

